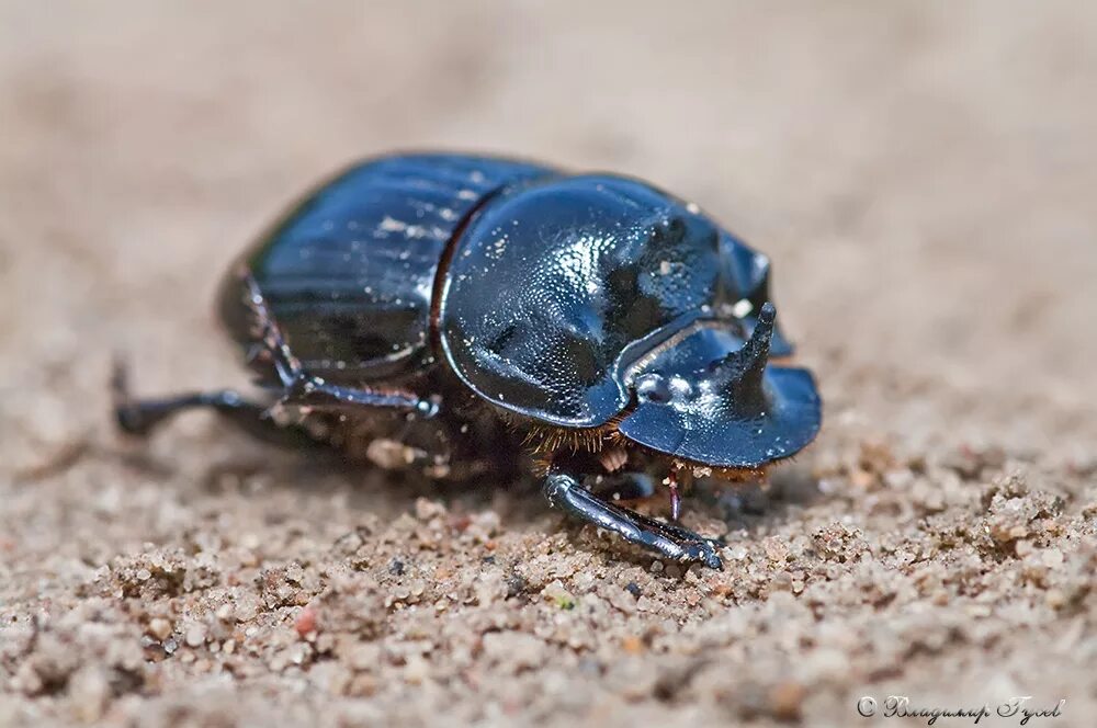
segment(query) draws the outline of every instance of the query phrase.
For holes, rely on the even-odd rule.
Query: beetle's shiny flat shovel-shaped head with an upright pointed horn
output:
[[[812,375],[769,364],[777,311],[748,337],[700,325],[633,367],[636,406],[618,425],[630,441],[702,466],[757,470],[806,446],[821,403]]]

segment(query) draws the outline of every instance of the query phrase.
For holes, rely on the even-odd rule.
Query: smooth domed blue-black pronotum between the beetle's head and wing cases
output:
[[[698,318],[749,335],[749,297],[765,303],[767,270],[694,206],[646,183],[532,180],[496,195],[455,241],[441,342],[495,405],[598,426],[629,403],[626,371],[655,340]]]

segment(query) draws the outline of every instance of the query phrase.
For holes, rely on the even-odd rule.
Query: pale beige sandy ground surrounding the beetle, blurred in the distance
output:
[[[0,725],[1094,725],[1097,11],[672,4],[0,3]],[[244,383],[226,263],[431,147],[647,177],[771,254],[826,423],[687,503],[723,572],[529,484],[114,434],[112,351]]]

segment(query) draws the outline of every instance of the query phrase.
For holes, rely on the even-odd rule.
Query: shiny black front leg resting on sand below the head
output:
[[[656,521],[608,503],[584,488],[579,478],[563,468],[555,465],[550,468],[543,490],[550,505],[599,528],[612,531],[630,543],[651,548],[669,560],[723,568],[716,555],[717,542],[672,523]]]

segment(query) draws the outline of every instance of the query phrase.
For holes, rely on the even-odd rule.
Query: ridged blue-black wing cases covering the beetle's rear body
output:
[[[550,173],[459,155],[355,164],[306,195],[234,266],[222,318],[238,342],[253,343],[242,286],[250,273],[310,374],[350,384],[415,377],[434,361],[432,293],[454,232],[493,192]]]

